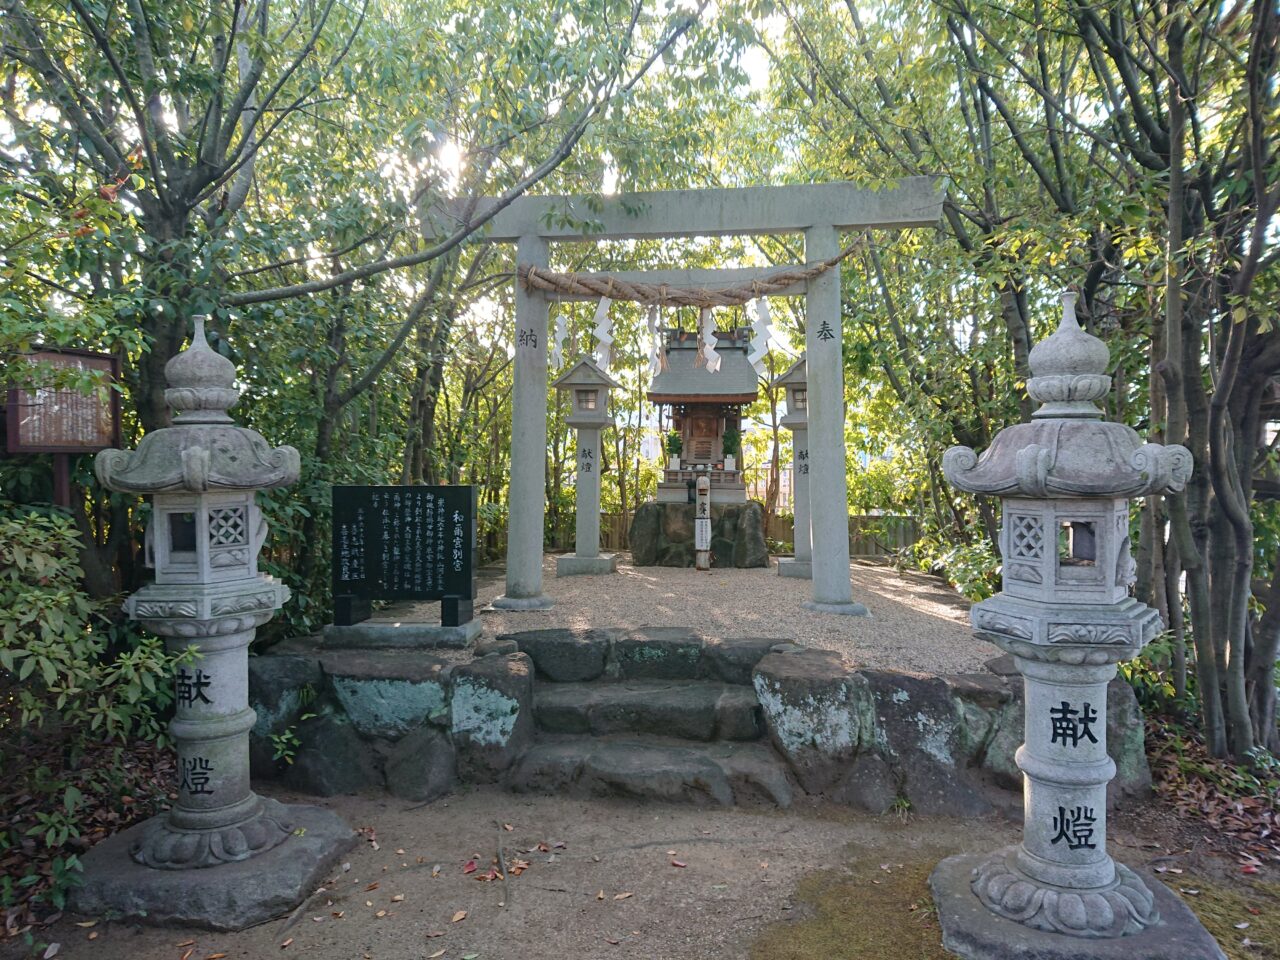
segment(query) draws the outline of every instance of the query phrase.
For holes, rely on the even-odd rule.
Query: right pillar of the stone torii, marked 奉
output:
[[[804,232],[805,261],[840,252],[835,227]],[[805,355],[809,389],[809,500],[813,531],[813,599],[824,613],[868,616],[849,582],[849,485],[845,477],[845,366],[840,310],[840,265],[809,280],[805,293]]]

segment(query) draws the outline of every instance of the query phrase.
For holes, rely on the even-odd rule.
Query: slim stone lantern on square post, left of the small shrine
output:
[[[581,356],[552,384],[568,394],[564,422],[577,431],[577,527],[573,554],[556,558],[556,576],[613,573],[616,553],[600,553],[600,429],[608,426],[609,390],[620,384],[594,360]]]

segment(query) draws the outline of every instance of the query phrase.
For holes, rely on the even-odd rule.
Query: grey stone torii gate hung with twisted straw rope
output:
[[[550,243],[803,233],[809,264],[840,253],[841,232],[932,227],[942,212],[943,182],[913,177],[886,189],[846,182],[588,196],[525,196],[488,224],[484,243],[515,243],[520,268],[545,270]],[[495,201],[476,201],[483,216]],[[717,287],[765,280],[790,268],[616,271],[584,276]],[[849,507],[845,479],[845,374],[840,265],[769,296],[804,294],[809,366],[809,483],[813,526],[813,599],[804,605],[865,616],[849,579]],[[573,297],[561,297],[572,300]],[[581,297],[580,297],[581,298]],[[550,301],[516,283],[516,358],[512,392],[507,593],[495,607],[547,609],[543,595],[543,516],[547,474],[547,326]]]

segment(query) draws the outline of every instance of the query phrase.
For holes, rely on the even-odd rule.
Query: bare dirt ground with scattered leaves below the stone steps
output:
[[[937,936],[922,878],[941,856],[1018,837],[1015,824],[996,818],[904,820],[818,804],[787,813],[698,809],[495,788],[419,809],[384,797],[332,805],[352,826],[372,827],[379,849],[362,841],[347,858],[349,870],[335,872],[292,924],[215,934],[64,919],[52,931],[59,956],[827,960],[832,938],[847,943],[856,933],[884,945],[883,954],[859,951],[865,960],[933,957],[941,952],[927,948]],[[1160,818],[1146,809],[1116,817],[1115,852],[1138,864],[1166,854],[1144,832],[1152,822]],[[508,864],[520,858],[529,868],[506,884],[477,881],[499,844]],[[467,874],[472,858],[479,867]],[[454,923],[458,911],[466,918]]]

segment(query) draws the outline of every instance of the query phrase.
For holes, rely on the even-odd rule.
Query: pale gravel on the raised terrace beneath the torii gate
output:
[[[776,636],[838,650],[861,667],[918,673],[964,673],[1000,650],[974,639],[969,604],[938,577],[899,573],[892,567],[854,563],[854,599],[870,617],[810,613],[808,580],[780,577],[777,570],[635,567],[622,554],[613,576],[556,576],[556,558],[544,563],[543,591],[556,600],[549,611],[485,609],[479,616],[486,636],[543,627],[684,626],[704,636]],[[504,590],[503,575],[486,570],[476,609]],[[378,620],[439,622],[439,604],[401,605]]]

